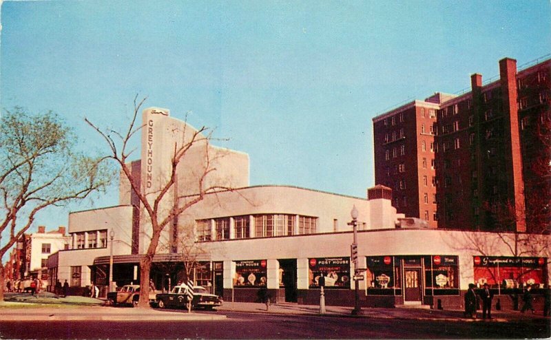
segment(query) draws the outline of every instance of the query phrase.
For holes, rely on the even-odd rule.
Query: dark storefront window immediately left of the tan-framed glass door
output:
[[[402,294],[400,277],[402,277],[402,275],[399,257],[367,257],[366,283],[368,294]]]

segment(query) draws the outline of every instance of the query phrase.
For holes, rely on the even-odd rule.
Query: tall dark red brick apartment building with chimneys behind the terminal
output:
[[[549,225],[551,60],[373,118],[375,183],[429,226],[539,232]],[[526,193],[526,195],[525,195]]]

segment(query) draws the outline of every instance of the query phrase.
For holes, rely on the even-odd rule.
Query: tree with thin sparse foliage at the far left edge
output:
[[[0,258],[28,231],[39,211],[83,200],[105,189],[113,177],[102,158],[75,151],[72,129],[52,112],[6,110],[0,145]],[[4,275],[0,261],[1,282]]]

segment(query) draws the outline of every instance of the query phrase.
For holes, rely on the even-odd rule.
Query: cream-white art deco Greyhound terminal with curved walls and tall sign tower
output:
[[[141,160],[131,167],[148,193],[168,176],[174,146],[196,130],[157,107],[143,111],[143,125]],[[532,245],[517,244],[524,254],[519,257],[510,252],[512,234],[429,229],[422,220],[397,214],[386,187],[368,189],[366,198],[290,186],[250,187],[249,156],[205,140],[191,147],[178,166],[176,189],[161,202],[166,209],[174,199],[198,193],[207,162],[216,171],[205,185],[233,189],[205,195],[163,231],[152,268],[157,288],[185,279],[183,253],[189,244],[181,241],[191,231],[199,262],[192,278],[227,301],[257,301],[259,291],[267,288],[277,301],[318,304],[323,275],[326,304],[351,306],[353,206],[358,211],[358,267],[363,270],[357,278],[363,306],[458,307],[470,283],[487,281],[504,296],[526,284],[549,284],[548,249],[533,246],[548,242],[548,236],[534,236]],[[70,214],[72,246],[50,256],[52,282],[67,279],[75,292],[94,283],[105,294],[111,249],[116,284],[138,281],[150,226],[123,176],[119,195],[118,206]],[[508,300],[501,304],[507,306]]]

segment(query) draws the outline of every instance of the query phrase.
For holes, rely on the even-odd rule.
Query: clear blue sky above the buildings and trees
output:
[[[0,105],[56,111],[97,152],[83,118],[124,127],[147,96],[248,153],[252,185],[365,197],[376,114],[550,53],[550,19],[548,0],[4,1]]]

